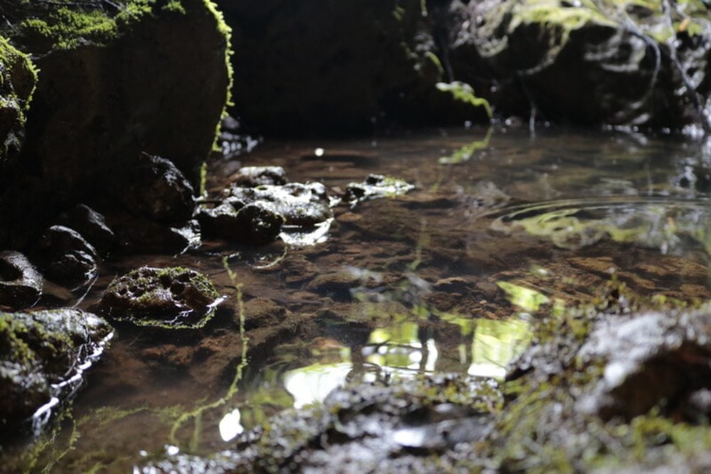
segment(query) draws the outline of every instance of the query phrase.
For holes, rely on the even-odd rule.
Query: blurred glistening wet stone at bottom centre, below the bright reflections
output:
[[[243,434],[230,459],[236,470],[436,472],[427,456],[486,436],[500,403],[495,384],[461,375],[358,384]]]

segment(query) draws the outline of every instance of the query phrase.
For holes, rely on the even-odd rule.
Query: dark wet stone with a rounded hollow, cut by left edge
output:
[[[0,305],[32,306],[42,295],[42,275],[20,252],[0,252]]]

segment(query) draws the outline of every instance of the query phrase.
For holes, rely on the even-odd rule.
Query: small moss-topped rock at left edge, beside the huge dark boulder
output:
[[[22,146],[35,83],[36,72],[29,57],[0,36],[0,173]]]

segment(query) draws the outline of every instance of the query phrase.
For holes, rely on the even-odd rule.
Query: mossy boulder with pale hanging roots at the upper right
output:
[[[500,114],[711,129],[707,2],[444,2],[454,77]]]

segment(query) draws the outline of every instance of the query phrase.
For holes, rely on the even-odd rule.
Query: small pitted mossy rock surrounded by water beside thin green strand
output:
[[[143,266],[114,279],[97,311],[117,321],[156,328],[201,328],[223,301],[207,276],[180,266]]]

